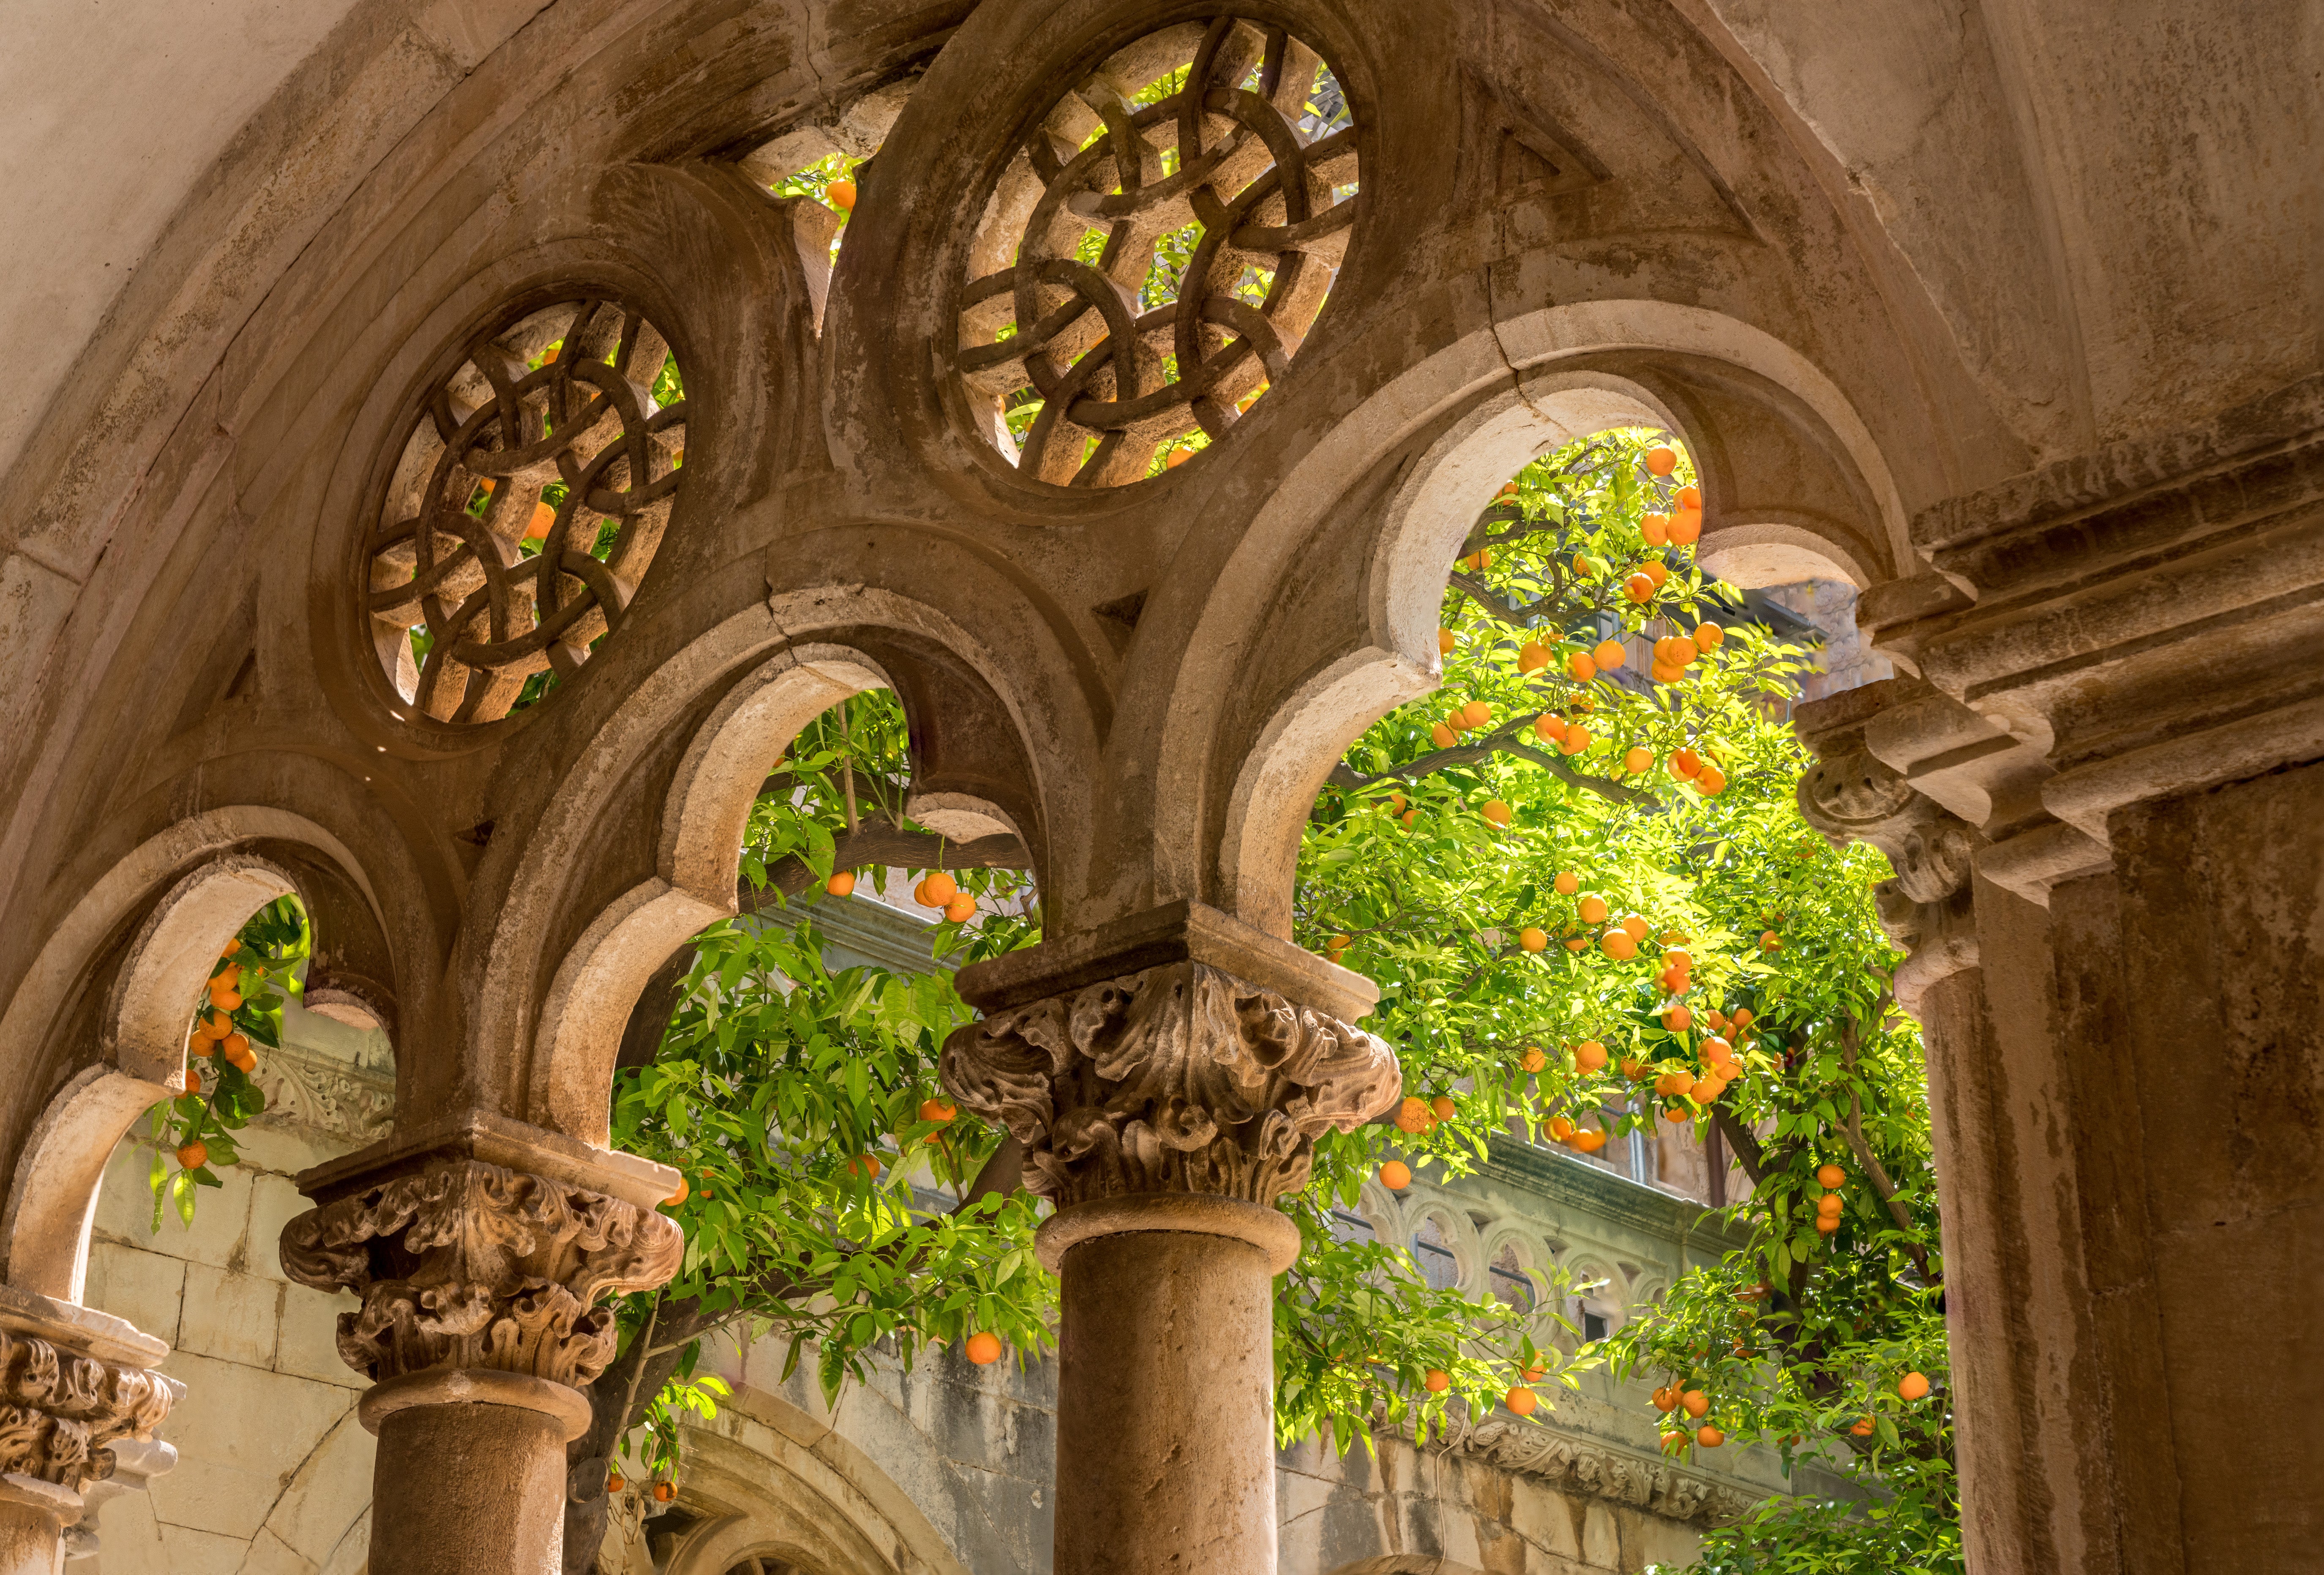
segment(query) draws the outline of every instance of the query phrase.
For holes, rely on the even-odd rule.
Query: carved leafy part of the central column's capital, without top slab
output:
[[[992,1012],[946,1040],[941,1075],[1025,1145],[1025,1186],[1057,1205],[1269,1203],[1306,1184],[1318,1133],[1401,1093],[1378,1038],[1195,961]]]

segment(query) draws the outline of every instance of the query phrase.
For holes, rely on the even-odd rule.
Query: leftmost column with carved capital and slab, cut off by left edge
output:
[[[84,1494],[114,1475],[114,1449],[139,1466],[156,1449],[167,1459],[151,1442],[184,1394],[151,1370],[167,1354],[116,1317],[0,1287],[0,1575],[63,1568]]]

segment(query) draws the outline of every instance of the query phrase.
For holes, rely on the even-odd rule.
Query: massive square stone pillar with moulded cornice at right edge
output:
[[[1913,544],[1934,572],[1859,619],[1915,679],[1857,726],[1973,833],[1922,996],[1968,1568],[2305,1568],[2324,379],[1948,500]]]

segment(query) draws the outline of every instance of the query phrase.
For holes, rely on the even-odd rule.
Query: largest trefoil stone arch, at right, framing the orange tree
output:
[[[1204,758],[1195,731],[1218,728],[1220,710],[1197,696],[1232,693],[1232,682],[1218,670],[1220,658],[1208,654],[1234,647],[1227,640],[1232,626],[1262,621],[1255,598],[1276,586],[1285,563],[1306,549],[1313,521],[1346,509],[1367,489],[1378,498],[1360,507],[1355,542],[1343,537],[1334,544],[1369,558],[1362,607],[1336,610],[1346,621],[1332,642],[1334,656],[1255,724],[1215,810],[1215,886],[1222,903],[1278,935],[1290,928],[1299,831],[1332,763],[1378,717],[1436,682],[1436,603],[1446,565],[1480,500],[1527,461],[1611,426],[1676,430],[1713,472],[1717,456],[1736,442],[1722,440],[1708,400],[1690,389],[1690,372],[1699,365],[1715,368],[1724,379],[1722,395],[1738,389],[1757,395],[1748,407],[1755,414],[1727,414],[1727,426],[1759,419],[1796,428],[1808,433],[1810,449],[1845,465],[1843,479],[1864,498],[1868,526],[1827,526],[1817,537],[1843,577],[1864,584],[1910,558],[1903,500],[1868,428],[1829,377],[1773,335],[1662,300],[1543,307],[1478,328],[1364,398],[1257,509],[1202,610],[1178,675],[1188,700],[1171,710],[1171,737],[1162,749],[1162,770],[1174,782],[1167,784],[1171,791],[1157,793],[1157,863],[1183,865],[1183,856],[1174,861],[1167,847],[1195,844],[1190,817],[1204,814],[1204,796],[1192,779]],[[1387,465],[1397,470],[1380,493]],[[1715,503],[1713,475],[1706,484]],[[1792,512],[1792,519],[1810,514]],[[1715,549],[1729,530],[1748,544],[1755,533],[1778,528],[1806,530],[1799,523],[1722,523],[1706,533],[1703,549]],[[1334,610],[1327,610],[1308,621],[1306,633],[1315,633],[1313,623],[1329,628],[1332,619]],[[1225,740],[1215,742],[1227,754]]]

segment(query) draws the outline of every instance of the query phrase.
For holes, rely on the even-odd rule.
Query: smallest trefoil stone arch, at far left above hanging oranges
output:
[[[105,961],[112,938],[160,889],[114,963],[98,1012],[93,1063],[49,1096],[16,1154],[7,1212],[0,1214],[0,1261],[9,1287],[56,1300],[81,1298],[105,1163],[130,1124],[184,1077],[188,1003],[251,912],[302,889],[281,863],[235,851],[253,842],[321,854],[379,917],[363,863],[330,831],[286,810],[209,810],[114,863],[51,933],[0,1012],[7,1042],[42,1042],[56,1003]],[[172,875],[174,884],[165,886]]]

